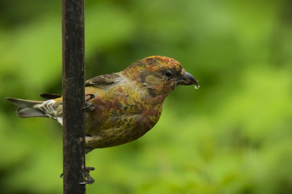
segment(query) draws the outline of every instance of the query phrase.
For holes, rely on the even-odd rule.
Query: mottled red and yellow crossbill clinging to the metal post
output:
[[[158,122],[164,99],[179,85],[198,81],[175,59],[149,56],[112,74],[85,81],[86,154],[143,136]],[[41,93],[44,101],[7,97],[18,117],[49,117],[62,124],[62,96]]]

